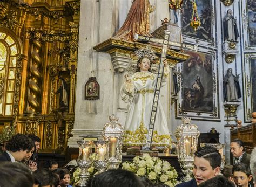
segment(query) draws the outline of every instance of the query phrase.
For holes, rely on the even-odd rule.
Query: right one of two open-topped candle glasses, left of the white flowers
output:
[[[99,173],[104,172],[109,166],[109,141],[94,141],[95,143],[95,168]]]

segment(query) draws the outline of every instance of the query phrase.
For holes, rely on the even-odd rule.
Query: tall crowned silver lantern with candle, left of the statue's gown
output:
[[[121,124],[117,123],[118,117],[110,116],[109,119],[110,122],[105,124],[102,135],[105,141],[109,141],[110,169],[117,169],[119,164],[122,163],[124,128]]]

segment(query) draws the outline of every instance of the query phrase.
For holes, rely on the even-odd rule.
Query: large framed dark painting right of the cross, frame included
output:
[[[180,91],[176,117],[219,121],[219,88],[217,55],[215,51],[186,51],[191,56],[178,64]]]

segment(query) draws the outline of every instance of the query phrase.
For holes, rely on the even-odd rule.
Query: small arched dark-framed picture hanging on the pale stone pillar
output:
[[[96,77],[90,77],[84,88],[85,99],[99,99],[99,84]]]

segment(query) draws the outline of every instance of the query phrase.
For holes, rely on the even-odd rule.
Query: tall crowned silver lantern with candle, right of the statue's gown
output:
[[[190,117],[183,117],[181,120],[183,124],[177,127],[174,134],[177,138],[178,161],[186,175],[184,181],[190,181],[194,167],[194,152],[197,150],[197,141],[200,133],[198,127],[190,123]]]

